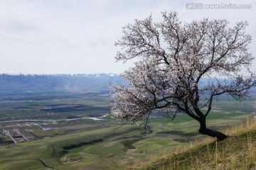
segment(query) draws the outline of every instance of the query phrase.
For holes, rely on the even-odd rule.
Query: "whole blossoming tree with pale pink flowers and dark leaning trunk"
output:
[[[207,128],[206,117],[214,98],[228,94],[243,101],[256,84],[250,72],[254,57],[248,52],[248,23],[228,28],[226,20],[182,23],[176,12],[162,17],[159,23],[149,16],[122,29],[115,59],[137,62],[122,74],[128,85],[114,86],[112,115],[126,123],[142,121],[146,127],[153,111],[173,118],[186,113],[200,123],[201,134],[225,139],[222,132]]]

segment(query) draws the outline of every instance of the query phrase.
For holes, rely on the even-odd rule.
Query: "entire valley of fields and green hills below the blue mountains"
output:
[[[122,125],[108,115],[108,91],[13,95],[1,95],[0,169],[118,169],[204,137],[198,123],[185,115],[170,120],[154,113],[150,134],[139,125]],[[208,126],[238,125],[252,116],[254,100],[218,98]]]

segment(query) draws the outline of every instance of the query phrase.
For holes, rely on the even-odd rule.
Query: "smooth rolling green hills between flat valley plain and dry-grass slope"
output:
[[[216,115],[218,118],[222,116],[227,115]],[[247,116],[212,118],[208,124],[221,129],[223,126],[220,125],[233,125]],[[181,121],[182,118],[184,121]],[[152,124],[154,132],[148,135],[136,125],[110,125],[109,128],[73,132],[2,147],[0,169],[118,169],[133,164],[137,159],[147,162],[156,154],[170,153],[177,146],[203,137],[197,132],[198,123],[185,116],[173,122],[156,118],[152,120]],[[53,136],[55,132],[49,130],[40,135]],[[97,140],[100,141],[93,142]],[[80,145],[81,143],[84,145]],[[64,149],[72,145],[75,146],[73,149]]]

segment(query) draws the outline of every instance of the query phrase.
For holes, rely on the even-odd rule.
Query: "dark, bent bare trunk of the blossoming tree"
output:
[[[211,130],[206,128],[206,119],[199,120],[200,129],[198,130],[203,135],[208,135],[210,137],[217,137],[218,140],[225,140],[228,136],[217,130]]]

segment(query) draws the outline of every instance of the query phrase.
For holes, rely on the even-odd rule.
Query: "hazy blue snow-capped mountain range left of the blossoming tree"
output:
[[[110,91],[118,74],[0,74],[0,91]]]

